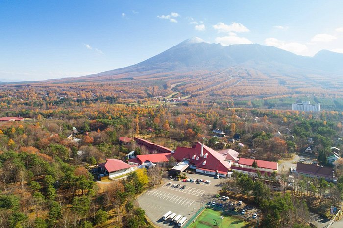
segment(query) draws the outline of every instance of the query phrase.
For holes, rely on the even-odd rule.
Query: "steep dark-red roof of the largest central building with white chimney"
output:
[[[200,157],[200,153],[201,143],[197,142],[193,148],[178,146],[175,150],[174,158],[179,161],[188,159],[190,164],[194,164],[197,168],[207,169],[212,172],[217,170],[218,172],[228,172],[230,164],[228,161],[225,161],[225,156],[205,145],[203,148],[203,154],[205,155],[207,153],[207,158]],[[199,157],[199,160],[196,160],[197,156]],[[205,165],[203,165],[204,161],[206,161]]]

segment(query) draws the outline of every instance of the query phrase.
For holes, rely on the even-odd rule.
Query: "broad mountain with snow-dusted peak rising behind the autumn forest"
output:
[[[209,44],[194,37],[138,64],[79,77],[78,80],[131,78],[166,72],[216,71],[233,66],[286,75],[294,72],[342,75],[343,54],[322,50],[314,57],[305,57],[272,46],[258,44],[222,46]]]

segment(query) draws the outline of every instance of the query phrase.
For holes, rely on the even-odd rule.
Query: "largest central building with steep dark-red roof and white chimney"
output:
[[[173,154],[177,161],[189,162],[189,168],[196,172],[226,177],[231,161],[217,151],[197,142],[192,148],[178,146]]]

